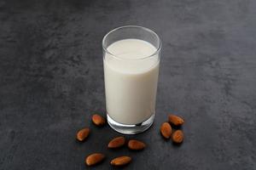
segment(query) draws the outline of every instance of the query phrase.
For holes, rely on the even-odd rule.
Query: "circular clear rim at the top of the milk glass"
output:
[[[154,34],[154,36],[159,40],[159,47],[156,48],[156,50],[155,50],[155,52],[154,52],[153,54],[150,54],[150,55],[148,55],[148,56],[146,56],[146,57],[142,57],[142,58],[138,58],[138,59],[125,59],[125,58],[119,57],[119,56],[116,55],[116,54],[112,54],[112,53],[110,53],[110,52],[108,51],[108,49],[107,49],[106,46],[104,45],[104,42],[105,42],[106,38],[108,37],[108,35],[111,34],[111,33],[114,32],[114,31],[118,31],[118,30],[120,30],[120,29],[129,28],[129,27],[131,27],[131,28],[132,28],[132,27],[133,27],[133,28],[141,28],[141,29],[143,29],[144,31],[148,31],[148,32]],[[150,43],[150,42],[149,42],[149,43]],[[107,54],[112,55],[113,58],[115,58],[115,59],[124,59],[124,60],[149,59],[149,58],[151,58],[151,57],[154,57],[156,54],[159,54],[160,49],[161,49],[161,46],[162,46],[162,43],[161,43],[160,37],[159,37],[154,31],[152,31],[152,30],[150,30],[150,29],[148,29],[148,28],[146,28],[146,27],[143,27],[143,26],[119,26],[119,27],[114,28],[114,29],[111,30],[111,31],[108,31],[108,33],[107,33],[107,34],[103,37],[103,39],[102,39],[102,48],[103,48],[103,50],[104,50]]]

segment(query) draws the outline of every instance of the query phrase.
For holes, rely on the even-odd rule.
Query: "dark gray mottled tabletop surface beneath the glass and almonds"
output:
[[[143,152],[108,150],[119,135],[90,122],[104,112],[102,37],[146,26],[163,42],[157,114],[127,138]],[[256,169],[256,1],[0,0],[0,169],[86,169],[84,157],[131,155],[127,169]],[[159,128],[185,118],[180,147]],[[81,127],[90,138],[75,141]],[[126,169],[126,168],[125,168]]]

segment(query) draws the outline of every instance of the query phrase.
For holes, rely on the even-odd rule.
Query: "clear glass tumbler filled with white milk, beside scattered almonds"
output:
[[[160,38],[142,26],[121,26],[102,40],[108,124],[134,134],[154,122]]]

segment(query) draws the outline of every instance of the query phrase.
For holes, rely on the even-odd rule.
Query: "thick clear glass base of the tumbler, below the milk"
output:
[[[137,123],[136,125],[121,124],[113,121],[113,119],[107,114],[108,124],[113,130],[123,134],[136,134],[142,133],[147,130],[154,122],[154,114],[150,116],[146,121]]]

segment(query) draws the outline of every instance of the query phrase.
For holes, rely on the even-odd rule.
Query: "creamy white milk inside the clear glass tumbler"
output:
[[[122,59],[105,54],[104,77],[109,116],[122,124],[146,121],[155,112],[155,96],[159,74],[156,48],[138,39],[113,42],[108,51]]]

